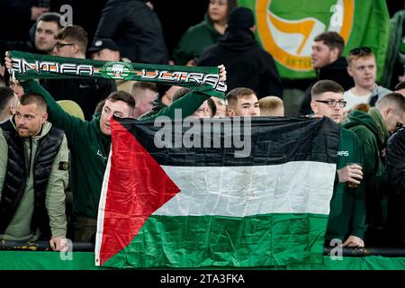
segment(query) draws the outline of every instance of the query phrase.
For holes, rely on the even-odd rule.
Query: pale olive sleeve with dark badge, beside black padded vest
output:
[[[52,238],[66,237],[67,219],[65,213],[65,189],[68,181],[67,139],[63,136],[58,155],[53,161],[46,191],[45,204],[49,215]]]

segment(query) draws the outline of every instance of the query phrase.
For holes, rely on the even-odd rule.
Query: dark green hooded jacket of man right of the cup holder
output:
[[[389,137],[381,113],[372,108],[368,113],[354,111],[347,115],[344,127],[360,139],[364,158],[364,181],[367,220],[370,226],[383,225],[386,220],[386,199],[383,195],[388,184],[381,151]]]

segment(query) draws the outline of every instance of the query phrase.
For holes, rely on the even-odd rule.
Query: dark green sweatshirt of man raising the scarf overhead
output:
[[[73,214],[96,219],[103,175],[111,147],[111,137],[104,135],[100,130],[100,115],[95,116],[92,121],[82,121],[65,112],[37,82],[25,81],[23,88],[25,92],[42,94],[48,102],[49,121],[59,129],[65,130],[72,159]],[[173,119],[175,109],[182,107],[184,107],[182,115],[186,117],[208,98],[210,96],[192,91],[156,115],[142,118],[141,121],[153,121],[161,115]]]

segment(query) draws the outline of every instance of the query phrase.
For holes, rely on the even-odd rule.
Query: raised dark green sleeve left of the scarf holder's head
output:
[[[65,131],[69,147],[74,148],[77,143],[80,144],[80,140],[77,139],[77,137],[85,134],[80,131],[85,129],[85,121],[65,112],[52,98],[48,91],[46,91],[38,82],[27,80],[24,81],[22,85],[24,92],[35,92],[45,97],[45,100],[48,103],[48,121],[58,127],[58,129]]]

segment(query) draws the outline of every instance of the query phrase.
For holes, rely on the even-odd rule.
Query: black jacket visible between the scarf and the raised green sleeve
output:
[[[105,78],[43,79],[41,84],[56,101],[76,102],[87,121],[92,120],[97,103],[117,90],[115,82]]]

